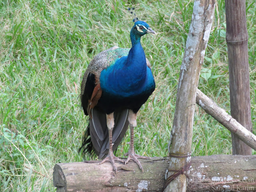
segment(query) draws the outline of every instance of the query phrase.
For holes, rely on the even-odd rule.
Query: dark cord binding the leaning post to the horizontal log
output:
[[[175,158],[188,158],[191,157],[191,152],[188,154],[180,154],[180,153],[172,153],[169,154],[169,157],[175,157]],[[166,189],[166,187],[170,184],[170,182],[172,182],[172,180],[174,180],[176,177],[178,177],[180,174],[184,174],[186,175],[186,177],[189,180],[189,176],[186,174],[186,172],[189,170],[191,166],[191,161],[189,161],[189,163],[185,163],[185,165],[183,167],[181,167],[179,170],[172,170],[172,169],[168,169],[168,172],[174,172],[174,174],[170,175],[164,182],[164,188],[162,190],[162,192],[164,192],[164,190]],[[168,175],[168,172],[166,173]]]

